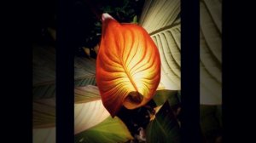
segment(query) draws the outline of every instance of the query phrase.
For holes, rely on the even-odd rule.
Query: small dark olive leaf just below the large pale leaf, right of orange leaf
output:
[[[154,103],[156,106],[163,105],[166,100],[169,101],[170,105],[176,105],[179,101],[177,100],[177,90],[157,90],[154,95]]]

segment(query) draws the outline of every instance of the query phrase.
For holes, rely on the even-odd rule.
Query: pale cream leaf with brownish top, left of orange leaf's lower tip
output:
[[[90,129],[110,116],[96,86],[75,88],[75,134]]]

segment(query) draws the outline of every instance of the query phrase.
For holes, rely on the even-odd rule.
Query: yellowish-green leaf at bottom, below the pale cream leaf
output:
[[[87,129],[79,134],[75,134],[75,143],[116,143],[133,139],[129,130],[119,117],[108,117],[102,123]]]

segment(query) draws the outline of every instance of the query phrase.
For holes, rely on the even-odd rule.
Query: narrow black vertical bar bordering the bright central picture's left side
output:
[[[56,143],[74,141],[72,5],[61,0],[57,4]]]

